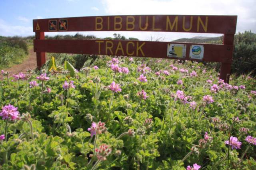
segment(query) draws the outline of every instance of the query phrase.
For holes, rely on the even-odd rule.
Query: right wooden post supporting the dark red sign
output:
[[[233,45],[233,43],[234,43],[234,34],[224,34],[223,44]],[[233,49],[227,49],[227,50],[232,50],[232,53],[233,53]],[[231,55],[231,57],[232,57],[232,55]],[[231,73],[231,63],[221,63],[220,79],[223,79],[225,83],[228,83],[230,73]]]

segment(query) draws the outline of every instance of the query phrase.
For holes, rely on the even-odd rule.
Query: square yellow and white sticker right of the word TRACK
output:
[[[167,47],[167,56],[168,57],[177,57],[177,58],[186,57],[186,45],[185,44],[169,43],[168,47]]]

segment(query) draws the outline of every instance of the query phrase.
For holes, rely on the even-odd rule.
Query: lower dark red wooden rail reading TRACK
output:
[[[176,52],[184,52],[184,56],[172,57],[170,44],[177,47]],[[233,45],[205,44],[205,43],[180,43],[180,42],[149,42],[149,41],[128,41],[128,40],[34,40],[34,51],[51,53],[80,53],[95,55],[126,55],[137,57],[153,58],[190,58],[192,45],[195,53],[199,53],[203,48],[202,61],[213,61],[231,63]],[[180,51],[179,52],[179,47]],[[202,47],[203,46],[203,47]],[[169,49],[168,49],[169,47]],[[173,52],[175,53],[175,52]],[[168,57],[168,55],[170,55]]]

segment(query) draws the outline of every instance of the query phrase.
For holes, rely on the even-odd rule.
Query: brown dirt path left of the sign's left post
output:
[[[22,63],[13,65],[8,69],[4,69],[4,71],[11,72],[11,75],[17,74],[20,72],[25,72],[26,69],[36,69],[36,53],[34,52],[33,48],[29,50],[28,58],[24,60]],[[0,75],[0,79],[2,78],[2,74]]]

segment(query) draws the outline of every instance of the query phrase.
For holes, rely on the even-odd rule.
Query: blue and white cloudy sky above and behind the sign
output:
[[[256,0],[0,0],[0,36],[34,35],[32,20],[76,16],[108,15],[237,15],[236,33],[256,33]],[[77,32],[46,33],[76,34]],[[121,34],[140,40],[172,41],[194,36],[216,37],[221,34],[174,32],[80,32],[98,38]]]

